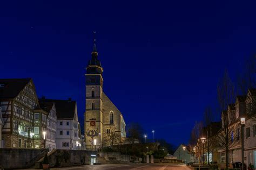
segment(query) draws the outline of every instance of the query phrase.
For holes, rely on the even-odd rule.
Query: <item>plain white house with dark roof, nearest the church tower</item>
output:
[[[77,103],[69,100],[49,100],[53,102],[57,115],[56,148],[62,150],[77,150],[79,146],[79,122]]]

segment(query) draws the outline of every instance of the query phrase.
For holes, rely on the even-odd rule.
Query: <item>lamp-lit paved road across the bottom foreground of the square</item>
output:
[[[163,164],[107,164],[107,165],[85,165],[77,167],[68,167],[68,168],[51,168],[55,170],[59,169],[138,169],[138,170],[191,170],[191,168],[185,165],[163,165]]]

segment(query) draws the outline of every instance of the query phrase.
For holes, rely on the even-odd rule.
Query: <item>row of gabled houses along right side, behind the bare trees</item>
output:
[[[244,164],[256,166],[256,89],[249,89],[247,95],[237,96],[221,113],[220,122],[211,122],[202,129],[194,146],[185,146],[185,157],[191,162],[211,164],[234,164],[244,159]],[[244,158],[241,151],[242,121],[244,124]],[[183,145],[179,150],[182,151]],[[178,155],[178,150],[176,155]],[[180,154],[183,160],[183,154]]]

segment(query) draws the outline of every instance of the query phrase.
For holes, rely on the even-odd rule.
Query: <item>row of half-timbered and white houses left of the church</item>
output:
[[[80,126],[71,98],[38,98],[32,79],[0,79],[0,107],[1,147],[77,149]]]

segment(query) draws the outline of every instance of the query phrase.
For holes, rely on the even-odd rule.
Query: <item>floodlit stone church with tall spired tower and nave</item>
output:
[[[102,73],[94,39],[85,74],[84,131],[87,150],[122,144],[126,138],[123,115],[103,91]]]

